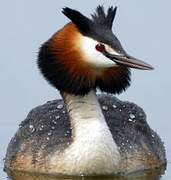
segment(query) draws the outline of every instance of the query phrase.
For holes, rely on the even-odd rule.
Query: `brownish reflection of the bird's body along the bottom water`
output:
[[[129,175],[128,177],[55,177],[22,172],[8,173],[9,180],[160,180],[165,168]]]

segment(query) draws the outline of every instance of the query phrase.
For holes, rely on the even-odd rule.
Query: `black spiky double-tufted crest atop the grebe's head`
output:
[[[106,31],[112,30],[116,10],[117,7],[113,8],[111,6],[108,8],[107,13],[105,13],[104,7],[99,5],[96,8],[96,12],[91,15],[92,19],[68,7],[63,8],[62,12],[78,27],[82,34],[97,39],[97,36],[101,37]]]

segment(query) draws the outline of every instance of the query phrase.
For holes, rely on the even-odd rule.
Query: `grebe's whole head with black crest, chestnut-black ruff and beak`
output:
[[[92,18],[64,8],[71,22],[56,32],[39,51],[38,66],[44,77],[60,91],[85,95],[99,88],[121,93],[130,85],[130,68],[153,67],[126,53],[112,32],[117,8],[105,13],[98,6]]]

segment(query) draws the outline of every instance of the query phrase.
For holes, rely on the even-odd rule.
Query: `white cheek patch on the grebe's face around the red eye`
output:
[[[80,47],[86,62],[96,68],[109,68],[116,65],[115,62],[105,57],[101,52],[95,49],[99,42],[85,36],[80,37]],[[106,45],[105,45],[106,47]],[[107,47],[109,49],[109,47]],[[112,49],[112,48],[111,48]],[[113,51],[114,50],[110,50]],[[116,53],[115,53],[116,54]]]

